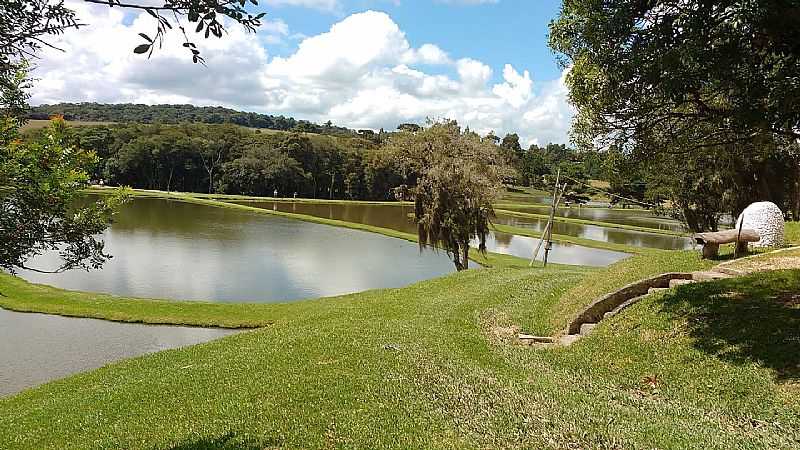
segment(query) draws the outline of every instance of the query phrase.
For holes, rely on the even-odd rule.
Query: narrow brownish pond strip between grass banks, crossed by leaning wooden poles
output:
[[[547,219],[534,217],[515,217],[498,214],[495,223],[513,227],[529,228],[544,231]],[[660,248],[664,250],[686,250],[692,248],[692,240],[688,237],[669,236],[644,231],[622,230],[618,228],[583,225],[569,222],[553,222],[553,233],[577,236],[595,241],[614,244],[633,245],[635,247]]]

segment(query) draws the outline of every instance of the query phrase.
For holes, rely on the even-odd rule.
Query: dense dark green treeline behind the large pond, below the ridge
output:
[[[406,181],[375,143],[361,137],[232,124],[112,124],[75,127],[71,133],[99,157],[94,180],[113,186],[387,200]]]

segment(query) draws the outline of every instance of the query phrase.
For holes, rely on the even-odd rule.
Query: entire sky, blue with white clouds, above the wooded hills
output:
[[[221,105],[375,130],[447,118],[526,146],[568,141],[566,72],[547,47],[560,1],[261,0],[257,33],[189,33],[205,67],[178,33],[149,60],[134,55],[155,27],[143,12],[67,4],[88,26],[34,61],[34,105]]]

